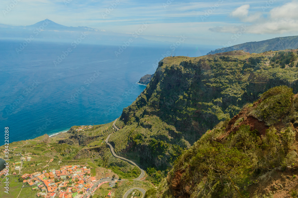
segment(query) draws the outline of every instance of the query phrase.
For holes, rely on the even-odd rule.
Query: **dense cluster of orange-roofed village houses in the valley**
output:
[[[0,176],[4,171],[0,172]],[[102,178],[96,180],[90,176],[90,169],[86,166],[61,166],[60,169],[50,169],[49,172],[35,172],[23,174],[23,187],[37,190],[37,196],[43,198],[89,198],[100,185],[117,183],[116,178]],[[103,180],[106,181],[103,181]],[[112,192],[108,193],[112,197]]]

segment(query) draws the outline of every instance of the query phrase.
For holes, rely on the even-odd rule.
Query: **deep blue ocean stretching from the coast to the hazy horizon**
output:
[[[24,40],[23,40],[24,41]],[[153,74],[169,44],[128,46],[0,40],[0,130],[9,141],[67,131],[74,125],[118,118],[146,88],[136,82]],[[69,50],[70,49],[70,50]],[[69,51],[68,51],[69,50]],[[179,46],[176,56],[197,57],[211,49]]]

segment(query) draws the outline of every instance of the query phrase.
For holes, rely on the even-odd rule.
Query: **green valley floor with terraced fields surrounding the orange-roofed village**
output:
[[[101,128],[100,128],[101,127]],[[89,131],[90,128],[97,130]],[[108,126],[80,125],[76,131],[100,134],[115,129]],[[86,132],[83,132],[84,134]],[[68,133],[60,133],[49,138],[43,135],[32,140],[10,143],[9,157],[5,149],[0,158],[9,162],[9,194],[0,193],[3,198],[141,198],[152,185],[144,182],[144,172],[136,166],[123,163],[121,166],[102,166],[102,159],[74,158],[83,148],[77,144],[57,144]],[[107,144],[102,139],[96,144]],[[86,147],[94,146],[94,142]],[[96,145],[95,144],[95,145]],[[108,144],[108,146],[110,146]],[[3,146],[4,147],[4,146]],[[103,146],[102,146],[103,147]],[[111,151],[105,149],[107,153]],[[112,153],[114,155],[114,153]],[[89,156],[88,156],[89,157]],[[93,158],[95,156],[92,156]],[[124,178],[123,178],[124,177]],[[0,172],[0,187],[5,186],[5,172]],[[140,180],[140,181],[139,181]],[[142,192],[134,188],[142,188]],[[135,192],[135,193],[134,193]]]

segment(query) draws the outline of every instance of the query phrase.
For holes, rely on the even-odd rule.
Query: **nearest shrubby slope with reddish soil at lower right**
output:
[[[297,118],[297,94],[271,88],[207,131],[145,197],[297,197]]]

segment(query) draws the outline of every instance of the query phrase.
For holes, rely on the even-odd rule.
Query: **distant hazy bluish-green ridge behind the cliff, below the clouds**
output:
[[[269,50],[285,50],[285,49],[297,49],[298,48],[298,36],[279,37],[269,40],[262,40],[258,42],[242,43],[234,46],[224,47],[216,49],[207,54],[216,54],[222,52],[230,52],[233,50],[243,50],[249,53],[262,53]]]

